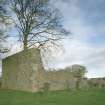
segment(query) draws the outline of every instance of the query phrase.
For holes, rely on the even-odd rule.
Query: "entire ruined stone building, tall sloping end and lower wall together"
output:
[[[50,90],[75,89],[76,78],[70,70],[44,70],[40,50],[29,49],[2,61],[2,88],[37,92],[49,85]],[[87,86],[82,79],[82,87]]]

